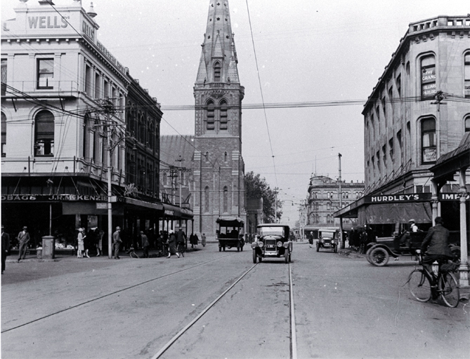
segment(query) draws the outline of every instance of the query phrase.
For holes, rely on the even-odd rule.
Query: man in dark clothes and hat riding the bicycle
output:
[[[452,252],[449,248],[449,231],[443,227],[443,219],[436,217],[434,220],[436,226],[429,229],[426,238],[421,245],[421,252],[424,255],[423,266],[431,275],[433,274],[433,262],[452,258]],[[427,250],[427,252],[426,252]]]

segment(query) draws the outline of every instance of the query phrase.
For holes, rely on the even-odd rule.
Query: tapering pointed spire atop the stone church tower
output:
[[[214,82],[214,65],[217,61],[221,67],[220,82],[239,83],[228,0],[210,0],[196,83],[204,83],[204,80]]]

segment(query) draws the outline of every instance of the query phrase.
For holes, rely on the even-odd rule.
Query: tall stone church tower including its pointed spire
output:
[[[210,0],[195,97],[195,231],[208,238],[218,217],[246,222],[242,100],[228,0]]]

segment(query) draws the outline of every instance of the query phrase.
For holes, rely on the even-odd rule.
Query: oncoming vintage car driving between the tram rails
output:
[[[289,263],[292,254],[292,241],[289,239],[289,226],[279,223],[259,224],[252,243],[253,263],[263,258],[284,257]]]

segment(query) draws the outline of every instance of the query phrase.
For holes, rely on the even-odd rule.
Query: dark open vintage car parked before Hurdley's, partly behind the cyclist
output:
[[[416,250],[421,248],[421,244],[426,237],[426,232],[395,233],[392,237],[377,238],[377,242],[367,245],[365,257],[374,266],[385,266],[389,263],[390,257],[398,259],[403,255],[416,256]],[[460,248],[455,244],[450,244],[450,251],[454,255],[454,261],[459,261]]]

